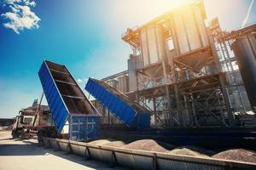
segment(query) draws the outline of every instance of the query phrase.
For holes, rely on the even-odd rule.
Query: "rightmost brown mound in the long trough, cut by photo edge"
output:
[[[212,156],[212,158],[256,163],[256,152],[243,149],[225,150]]]

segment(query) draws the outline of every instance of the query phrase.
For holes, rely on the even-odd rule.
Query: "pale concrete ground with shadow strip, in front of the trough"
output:
[[[98,161],[38,146],[36,139],[12,139],[10,131],[0,131],[0,170],[83,170],[124,169]]]

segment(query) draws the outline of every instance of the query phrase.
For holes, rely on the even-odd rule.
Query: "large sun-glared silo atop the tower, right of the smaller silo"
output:
[[[209,40],[207,29],[204,23],[205,12],[199,4],[188,4],[177,8],[172,13],[173,27],[172,32],[177,35],[177,54],[185,54],[189,51],[207,47]]]

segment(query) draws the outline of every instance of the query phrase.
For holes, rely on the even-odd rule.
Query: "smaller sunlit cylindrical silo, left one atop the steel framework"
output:
[[[160,62],[166,57],[166,42],[160,25],[148,25],[141,30],[143,65]]]

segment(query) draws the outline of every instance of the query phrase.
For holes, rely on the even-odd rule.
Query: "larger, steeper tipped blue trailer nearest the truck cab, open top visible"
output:
[[[57,132],[72,140],[96,139],[100,115],[67,67],[44,60],[38,75]]]

